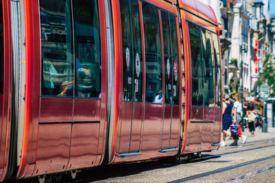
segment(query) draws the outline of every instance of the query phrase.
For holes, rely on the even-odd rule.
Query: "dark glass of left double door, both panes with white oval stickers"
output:
[[[130,8],[131,6],[131,8]],[[131,11],[131,13],[130,13]],[[137,0],[120,0],[124,101],[142,101],[142,42]],[[132,61],[133,60],[133,61]]]

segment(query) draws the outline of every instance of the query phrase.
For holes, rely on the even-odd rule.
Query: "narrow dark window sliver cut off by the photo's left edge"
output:
[[[4,80],[4,54],[3,54],[3,5],[2,1],[0,1],[0,95],[3,95],[3,80]]]

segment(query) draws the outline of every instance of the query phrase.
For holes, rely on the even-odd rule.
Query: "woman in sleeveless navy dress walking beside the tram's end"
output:
[[[224,95],[223,96],[223,125],[222,125],[222,130],[223,132],[223,139],[221,141],[220,146],[225,146],[225,138],[226,135],[228,135],[228,138],[231,137],[230,132],[228,132],[228,129],[232,123],[232,105],[229,101],[229,95]]]

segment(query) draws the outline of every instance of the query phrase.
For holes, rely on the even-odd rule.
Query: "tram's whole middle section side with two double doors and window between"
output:
[[[122,72],[118,97],[120,107],[115,140],[116,153],[112,156],[115,156],[117,163],[175,155],[179,145],[178,100],[179,80],[181,80],[177,9],[164,1],[116,2],[120,4],[120,11],[116,10],[120,15],[118,32],[122,38],[118,45],[121,50],[118,53],[120,55],[118,70]],[[163,9],[169,11],[164,13]],[[164,34],[168,32],[167,29],[164,31],[162,14],[166,14],[168,32],[175,33],[173,40],[170,34],[167,34],[167,44],[163,43]],[[170,20],[175,23],[172,26],[173,30],[170,30]],[[171,44],[175,53],[172,52]],[[165,59],[165,50],[170,52],[168,62]],[[168,75],[170,82],[165,85]],[[173,80],[177,80],[174,85]],[[173,96],[177,99],[172,99]],[[162,149],[172,148],[173,151],[161,152]]]

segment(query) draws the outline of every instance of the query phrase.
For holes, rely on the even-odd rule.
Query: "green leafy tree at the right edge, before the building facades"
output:
[[[263,73],[260,73],[260,78],[256,82],[257,86],[267,83],[270,86],[270,97],[275,97],[275,66],[272,65],[270,54],[263,61]]]

